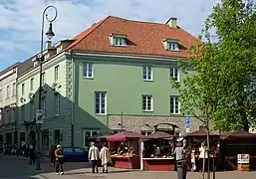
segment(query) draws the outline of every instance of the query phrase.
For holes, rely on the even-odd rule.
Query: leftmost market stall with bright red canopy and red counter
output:
[[[138,169],[138,140],[141,137],[132,131],[123,131],[108,136],[112,161],[117,168]]]

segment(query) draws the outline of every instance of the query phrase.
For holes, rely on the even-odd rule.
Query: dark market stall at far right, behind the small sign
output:
[[[238,130],[222,135],[222,163],[225,170],[240,170],[238,167],[241,154],[249,156],[247,168],[256,169],[256,135],[247,131]]]

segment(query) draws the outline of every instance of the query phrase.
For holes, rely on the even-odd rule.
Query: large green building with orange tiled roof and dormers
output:
[[[47,42],[42,148],[87,147],[89,137],[120,130],[148,134],[159,123],[176,124],[184,132],[171,79],[182,81],[177,60],[186,62],[195,41],[175,18],[157,24],[110,16],[72,40]],[[39,67],[35,57],[22,65],[29,68],[17,80],[18,135],[33,140],[35,126],[27,123],[38,106]],[[190,118],[190,131],[199,125]]]

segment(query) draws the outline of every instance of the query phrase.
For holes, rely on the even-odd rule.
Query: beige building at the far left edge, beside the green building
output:
[[[0,72],[0,143],[17,142],[17,76],[20,63]]]

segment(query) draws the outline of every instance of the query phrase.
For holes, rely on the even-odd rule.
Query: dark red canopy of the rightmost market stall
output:
[[[223,139],[256,139],[256,135],[244,130],[237,130],[222,136]]]

